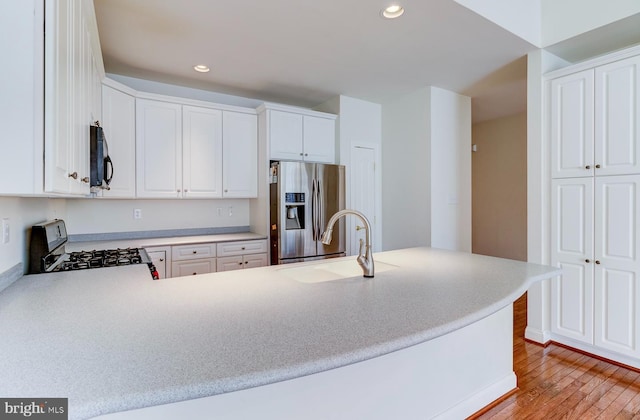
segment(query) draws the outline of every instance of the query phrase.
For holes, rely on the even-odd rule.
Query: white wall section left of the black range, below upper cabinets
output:
[[[0,273],[18,263],[28,268],[29,228],[40,222],[65,218],[65,200],[48,198],[0,197],[0,219],[8,218],[11,238],[0,242]]]

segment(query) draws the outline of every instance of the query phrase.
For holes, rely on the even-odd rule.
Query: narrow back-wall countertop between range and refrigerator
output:
[[[207,242],[232,242],[249,241],[256,239],[267,239],[265,235],[252,232],[244,233],[222,233],[216,235],[192,235],[192,236],[172,236],[166,238],[138,238],[119,239],[104,241],[78,241],[67,242],[65,249],[69,251],[88,251],[93,249],[115,249],[115,248],[148,248],[166,245],[188,245],[201,244]]]

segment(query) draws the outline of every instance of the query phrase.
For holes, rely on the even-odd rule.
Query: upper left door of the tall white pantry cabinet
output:
[[[593,175],[593,70],[551,81],[551,177]]]

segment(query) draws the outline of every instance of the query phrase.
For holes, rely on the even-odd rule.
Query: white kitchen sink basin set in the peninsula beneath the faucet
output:
[[[398,268],[397,265],[375,261],[375,274]],[[323,283],[354,277],[362,277],[362,268],[356,260],[321,262],[277,270],[283,276],[300,283]]]

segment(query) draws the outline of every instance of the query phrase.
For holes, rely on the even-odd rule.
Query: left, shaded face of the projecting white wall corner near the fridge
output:
[[[382,104],[382,249],[431,245],[429,89]]]

